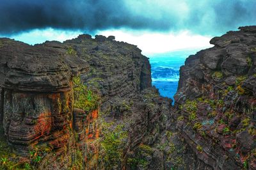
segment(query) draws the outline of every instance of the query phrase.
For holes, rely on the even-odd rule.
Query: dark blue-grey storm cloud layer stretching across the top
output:
[[[0,0],[0,33],[126,27],[218,34],[256,24],[255,0]]]

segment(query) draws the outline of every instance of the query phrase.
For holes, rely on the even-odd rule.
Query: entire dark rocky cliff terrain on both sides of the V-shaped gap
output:
[[[172,100],[114,36],[0,38],[0,169],[256,169],[256,26],[186,59]]]

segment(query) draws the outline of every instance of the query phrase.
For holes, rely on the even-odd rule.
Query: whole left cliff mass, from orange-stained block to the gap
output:
[[[152,88],[141,50],[114,39],[80,35],[34,46],[0,40],[0,125],[19,153],[3,168],[12,161],[36,169],[139,166],[131,160],[141,146],[153,148],[172,101]],[[143,168],[159,166],[153,157],[161,160],[151,155]]]

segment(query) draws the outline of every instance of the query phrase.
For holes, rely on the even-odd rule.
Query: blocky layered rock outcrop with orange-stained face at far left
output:
[[[88,69],[86,62],[9,39],[1,39],[0,55],[1,115],[8,141],[29,145],[61,140],[60,129],[72,118],[71,78]]]

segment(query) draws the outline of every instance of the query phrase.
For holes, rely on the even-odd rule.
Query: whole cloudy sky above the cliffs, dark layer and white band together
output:
[[[0,36],[29,44],[82,33],[114,35],[143,54],[211,47],[209,40],[256,25],[255,0],[1,0]]]

